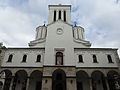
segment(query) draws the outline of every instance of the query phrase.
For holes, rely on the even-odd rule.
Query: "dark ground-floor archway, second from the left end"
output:
[[[19,70],[15,73],[12,90],[26,90],[27,72]]]

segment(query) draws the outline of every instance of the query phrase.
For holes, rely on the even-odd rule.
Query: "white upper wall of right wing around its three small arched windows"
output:
[[[115,56],[116,50],[107,49],[76,49],[75,61],[76,67],[118,67]],[[79,62],[78,56],[83,56],[83,63]],[[98,63],[93,63],[92,55],[96,55]],[[108,62],[107,55],[111,55],[113,63]]]

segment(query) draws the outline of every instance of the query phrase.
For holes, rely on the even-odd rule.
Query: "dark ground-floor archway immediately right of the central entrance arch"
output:
[[[90,82],[88,74],[84,71],[78,71],[76,73],[77,77],[77,90],[90,90]]]

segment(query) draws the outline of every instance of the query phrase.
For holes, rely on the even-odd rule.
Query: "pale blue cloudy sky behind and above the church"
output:
[[[0,0],[0,42],[28,47],[55,4],[72,5],[71,24],[85,29],[91,47],[120,49],[120,0]]]

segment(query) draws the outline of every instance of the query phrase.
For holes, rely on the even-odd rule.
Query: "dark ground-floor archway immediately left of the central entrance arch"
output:
[[[35,70],[29,78],[29,90],[42,90],[42,72]]]

